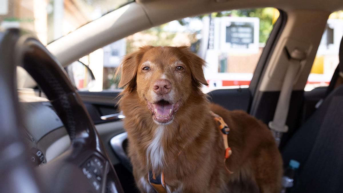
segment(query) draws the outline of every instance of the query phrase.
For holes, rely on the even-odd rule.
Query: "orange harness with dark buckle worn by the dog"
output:
[[[224,167],[230,174],[232,174],[233,172],[230,171],[225,165],[226,159],[229,158],[232,154],[232,150],[227,144],[227,134],[230,133],[230,128],[227,126],[227,124],[224,122],[224,120],[221,116],[213,113],[212,111],[210,111],[210,113],[213,116],[213,119],[216,121],[216,123],[218,125],[217,126],[218,129],[220,129],[220,131],[222,132],[223,142],[224,142],[224,147],[225,147]],[[149,181],[150,185],[152,186],[152,188],[156,192],[158,192],[158,193],[166,193],[167,192],[166,184],[164,182],[164,173],[163,172],[161,172],[161,174],[156,176],[155,172],[149,171],[148,181]]]

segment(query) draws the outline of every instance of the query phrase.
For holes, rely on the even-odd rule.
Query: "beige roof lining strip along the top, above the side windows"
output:
[[[275,7],[286,12],[321,10],[333,12],[343,9],[341,0],[136,0],[144,7],[153,25],[215,11]]]

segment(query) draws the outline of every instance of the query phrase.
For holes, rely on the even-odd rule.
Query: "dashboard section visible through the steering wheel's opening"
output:
[[[20,93],[19,109],[29,158],[34,165],[45,164],[68,149],[67,130],[46,98]]]

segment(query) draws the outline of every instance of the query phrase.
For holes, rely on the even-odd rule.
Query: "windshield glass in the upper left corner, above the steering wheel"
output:
[[[0,0],[0,28],[20,27],[44,44],[134,0]]]

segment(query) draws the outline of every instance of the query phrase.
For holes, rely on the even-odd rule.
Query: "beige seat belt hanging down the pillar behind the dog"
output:
[[[281,137],[283,133],[288,131],[286,125],[286,119],[288,115],[289,102],[291,100],[291,94],[293,90],[294,81],[298,75],[301,61],[306,58],[306,53],[295,48],[289,55],[289,65],[285,74],[282,88],[280,91],[279,100],[277,101],[273,121],[269,122],[268,126],[273,132],[273,136],[277,146],[280,145]]]

